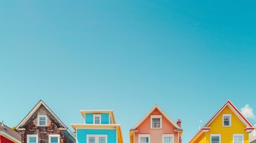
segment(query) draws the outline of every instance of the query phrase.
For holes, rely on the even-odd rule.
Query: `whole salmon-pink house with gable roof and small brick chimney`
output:
[[[181,120],[175,123],[155,105],[130,131],[131,143],[181,143]]]

